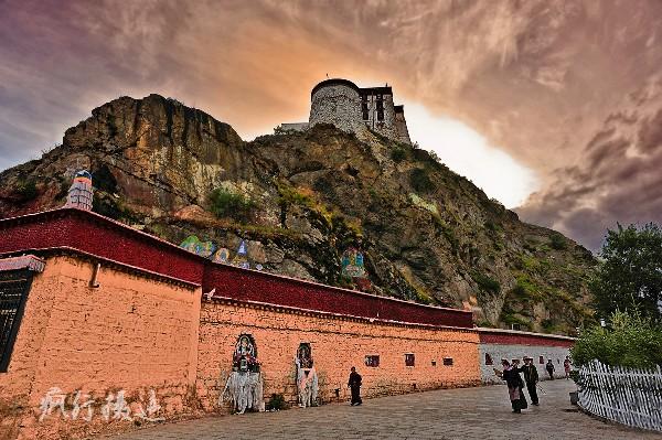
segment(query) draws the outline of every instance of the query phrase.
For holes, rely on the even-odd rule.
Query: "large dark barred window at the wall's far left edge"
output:
[[[32,282],[29,270],[0,272],[0,372],[7,372],[25,300]]]

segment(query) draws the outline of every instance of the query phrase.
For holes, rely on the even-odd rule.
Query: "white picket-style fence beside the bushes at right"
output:
[[[662,431],[662,368],[638,369],[592,361],[579,369],[579,406],[634,428]]]

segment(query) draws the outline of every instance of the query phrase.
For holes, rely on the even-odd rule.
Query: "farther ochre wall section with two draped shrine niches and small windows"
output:
[[[201,309],[196,395],[205,410],[217,409],[232,371],[235,343],[243,333],[255,339],[266,400],[277,393],[296,401],[293,359],[302,342],[311,345],[323,401],[337,399],[335,388],[341,390],[340,399],[349,398],[346,382],[352,366],[363,376],[362,394],[369,397],[480,383],[479,340],[473,330],[371,323],[213,300],[203,302]],[[405,353],[415,354],[414,367],[405,366]],[[366,367],[365,355],[375,354],[380,355],[380,366]],[[445,366],[444,357],[452,357],[453,365]],[[227,410],[227,405],[220,409]]]

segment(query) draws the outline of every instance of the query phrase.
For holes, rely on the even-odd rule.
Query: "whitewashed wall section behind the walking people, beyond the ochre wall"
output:
[[[522,359],[524,356],[533,357],[533,365],[537,368],[541,380],[547,380],[549,375],[545,369],[547,359],[554,362],[554,377],[565,378],[563,361],[569,356],[569,348],[545,346],[545,345],[509,345],[509,344],[480,344],[480,373],[481,379],[485,384],[503,383],[494,374],[493,368],[501,369],[501,359]],[[485,353],[492,356],[493,365],[485,365]],[[538,357],[544,356],[545,364],[538,363]],[[522,364],[524,362],[522,361]]]

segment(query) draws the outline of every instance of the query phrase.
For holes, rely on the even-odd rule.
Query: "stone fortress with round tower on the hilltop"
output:
[[[388,85],[361,88],[348,79],[323,81],[310,93],[308,122],[281,124],[276,131],[305,131],[316,124],[332,124],[360,138],[370,129],[389,139],[412,143],[404,106],[394,105],[393,89]]]

